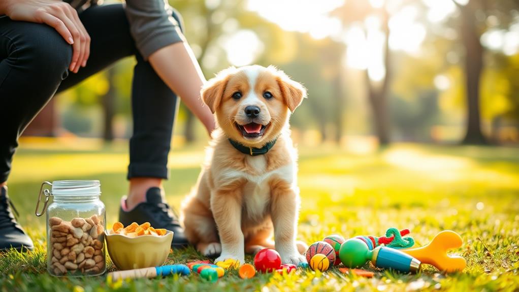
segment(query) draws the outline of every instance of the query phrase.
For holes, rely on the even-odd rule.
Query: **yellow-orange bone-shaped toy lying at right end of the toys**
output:
[[[461,256],[447,255],[448,249],[461,247],[463,240],[458,233],[452,230],[444,230],[421,247],[401,249],[402,252],[436,267],[440,271],[455,272],[465,269],[467,261]]]

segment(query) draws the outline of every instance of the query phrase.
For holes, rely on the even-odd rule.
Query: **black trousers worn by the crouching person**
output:
[[[173,17],[182,23],[177,13]],[[9,175],[18,137],[54,93],[130,55],[135,55],[137,64],[128,178],[168,178],[176,95],[136,50],[121,4],[94,6],[79,18],[91,45],[87,66],[77,74],[67,69],[72,47],[52,27],[0,18],[0,183]]]

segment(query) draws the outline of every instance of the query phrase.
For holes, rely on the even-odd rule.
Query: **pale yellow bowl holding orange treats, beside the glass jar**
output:
[[[156,267],[168,258],[173,240],[173,231],[165,235],[140,235],[127,237],[105,232],[108,255],[119,270]]]

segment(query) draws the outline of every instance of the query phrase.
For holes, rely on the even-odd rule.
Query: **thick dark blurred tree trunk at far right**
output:
[[[474,1],[461,6],[461,36],[465,47],[465,82],[467,87],[467,128],[462,144],[487,144],[481,131],[480,77],[483,69],[483,46],[477,32]]]

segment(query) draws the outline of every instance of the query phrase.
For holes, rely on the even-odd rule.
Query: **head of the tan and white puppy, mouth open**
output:
[[[274,66],[253,65],[225,69],[201,94],[229,138],[262,147],[279,135],[306,89]]]

